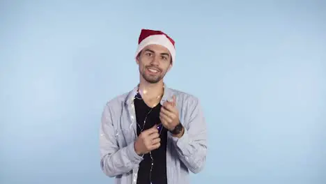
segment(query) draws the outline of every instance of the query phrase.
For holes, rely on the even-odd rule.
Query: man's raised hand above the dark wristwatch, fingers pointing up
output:
[[[173,95],[172,102],[164,102],[161,107],[160,120],[162,125],[170,131],[174,130],[176,125],[180,123],[179,112],[176,108],[176,96]]]

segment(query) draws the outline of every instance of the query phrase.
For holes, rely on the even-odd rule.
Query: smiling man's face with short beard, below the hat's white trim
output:
[[[137,57],[139,72],[150,84],[160,82],[171,68],[171,54],[161,45],[148,45]]]

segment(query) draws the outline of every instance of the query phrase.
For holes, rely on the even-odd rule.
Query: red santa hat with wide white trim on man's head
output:
[[[162,45],[163,47],[166,47],[171,54],[172,62],[175,61],[176,48],[174,47],[174,40],[162,31],[155,31],[150,29],[141,29],[136,57],[144,47],[151,44]]]

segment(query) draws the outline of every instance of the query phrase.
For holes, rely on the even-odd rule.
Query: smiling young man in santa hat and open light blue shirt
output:
[[[136,61],[140,81],[109,100],[100,126],[100,163],[115,183],[186,184],[205,165],[205,118],[199,100],[164,84],[175,63],[174,40],[142,29]]]

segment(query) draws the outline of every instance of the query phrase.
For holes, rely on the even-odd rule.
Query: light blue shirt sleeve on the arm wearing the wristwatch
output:
[[[194,174],[199,173],[206,160],[207,130],[205,118],[198,99],[194,99],[187,107],[189,113],[188,126],[182,137],[172,137],[180,160]]]

